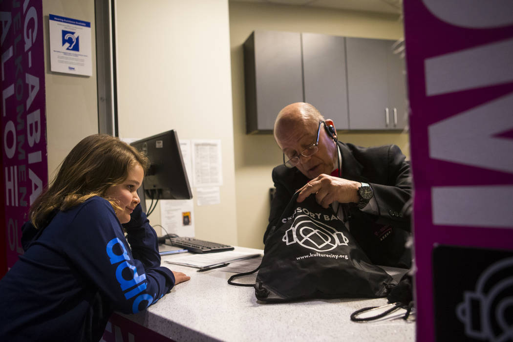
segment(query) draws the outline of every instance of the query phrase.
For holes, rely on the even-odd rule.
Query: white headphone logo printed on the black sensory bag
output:
[[[349,239],[342,232],[303,214],[294,218],[282,241],[287,246],[298,243],[314,251],[326,252],[340,245],[347,246]]]

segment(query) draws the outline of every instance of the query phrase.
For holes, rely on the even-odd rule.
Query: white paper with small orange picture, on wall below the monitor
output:
[[[165,232],[178,236],[194,236],[194,205],[192,199],[161,199],[161,225]]]

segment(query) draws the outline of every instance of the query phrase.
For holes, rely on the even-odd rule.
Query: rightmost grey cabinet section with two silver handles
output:
[[[403,129],[406,125],[404,61],[394,41],[346,38],[349,127]]]

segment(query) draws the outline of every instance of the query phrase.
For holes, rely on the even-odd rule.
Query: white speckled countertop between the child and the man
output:
[[[263,253],[236,247],[236,251]],[[170,265],[165,260],[185,254],[162,256],[162,265],[191,279],[178,284],[147,310],[124,315],[161,335],[177,341],[413,341],[415,321],[403,319],[354,323],[354,311],[387,303],[379,299],[319,299],[287,304],[262,304],[251,287],[227,283],[233,274],[214,269]],[[240,283],[255,279],[239,278]]]

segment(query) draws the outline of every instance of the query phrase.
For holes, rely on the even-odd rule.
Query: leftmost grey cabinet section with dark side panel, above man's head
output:
[[[301,33],[254,31],[244,43],[246,132],[272,132],[286,105],[302,102]]]

